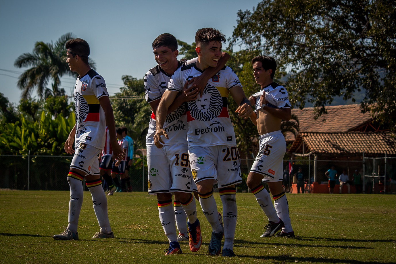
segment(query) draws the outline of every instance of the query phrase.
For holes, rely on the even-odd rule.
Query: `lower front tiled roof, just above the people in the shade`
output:
[[[390,132],[307,133],[302,132],[289,148],[289,152],[316,154],[396,154],[396,134]]]

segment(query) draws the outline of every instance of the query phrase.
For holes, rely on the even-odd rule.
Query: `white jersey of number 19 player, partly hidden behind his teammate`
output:
[[[186,64],[188,61],[185,61]],[[183,64],[179,62],[179,67]],[[147,103],[160,100],[164,94],[166,87],[169,83],[171,76],[166,74],[159,65],[149,70],[144,78],[145,93]],[[169,139],[162,138],[165,142],[164,145],[173,145],[176,143],[186,142],[187,133],[187,105],[182,104],[175,111],[166,116],[164,123],[164,130],[168,133]],[[148,133],[146,137],[146,144],[154,146],[155,134],[155,113],[151,114],[150,123],[148,124]]]

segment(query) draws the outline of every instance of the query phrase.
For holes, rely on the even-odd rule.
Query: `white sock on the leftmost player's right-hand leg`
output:
[[[102,233],[110,233],[111,227],[109,222],[109,215],[107,214],[107,198],[105,191],[102,188],[100,179],[87,181],[86,185],[89,192],[91,192],[93,211],[95,211],[100,230]]]

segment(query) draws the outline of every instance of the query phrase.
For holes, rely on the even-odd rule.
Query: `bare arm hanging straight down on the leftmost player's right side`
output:
[[[103,108],[106,116],[106,124],[109,128],[110,144],[113,150],[113,155],[117,160],[122,160],[125,156],[125,152],[122,151],[121,146],[118,144],[116,138],[116,124],[114,122],[113,108],[111,107],[110,99],[108,96],[102,96],[99,98],[99,104]]]

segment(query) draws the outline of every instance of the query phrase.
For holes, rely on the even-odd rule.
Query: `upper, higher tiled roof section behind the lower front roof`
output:
[[[301,132],[347,132],[371,120],[371,116],[362,114],[359,104],[326,106],[327,114],[314,119],[314,108],[293,109],[299,120]],[[325,121],[323,121],[325,119]]]

